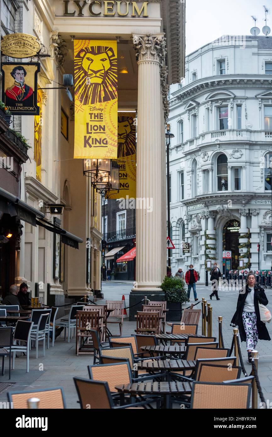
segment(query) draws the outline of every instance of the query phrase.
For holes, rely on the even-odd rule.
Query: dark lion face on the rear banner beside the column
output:
[[[136,126],[133,118],[118,116],[118,158],[136,153]]]

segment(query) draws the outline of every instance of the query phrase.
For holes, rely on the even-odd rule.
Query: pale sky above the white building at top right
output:
[[[272,0],[185,0],[185,55],[222,35],[250,35],[254,27],[251,15],[258,18],[256,27],[261,30],[259,35],[263,35],[263,4],[271,9],[267,25],[272,29]]]

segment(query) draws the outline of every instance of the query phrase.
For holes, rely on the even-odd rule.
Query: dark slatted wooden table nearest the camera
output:
[[[130,395],[158,395],[164,399],[163,409],[171,408],[171,396],[185,395],[192,392],[192,382],[135,382],[127,385],[116,385],[119,393]]]

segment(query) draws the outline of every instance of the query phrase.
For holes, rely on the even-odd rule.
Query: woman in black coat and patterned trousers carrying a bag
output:
[[[255,273],[250,271],[246,285],[239,291],[237,309],[231,320],[231,323],[239,328],[241,341],[247,343],[249,363],[252,361],[251,351],[255,350],[258,340],[271,340],[261,319],[260,304],[267,305],[268,299],[265,290],[256,283]],[[268,311],[266,308],[266,312]]]

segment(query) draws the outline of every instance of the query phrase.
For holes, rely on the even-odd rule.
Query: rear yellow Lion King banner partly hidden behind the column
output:
[[[110,191],[110,199],[136,198],[136,114],[118,112],[119,193]]]

